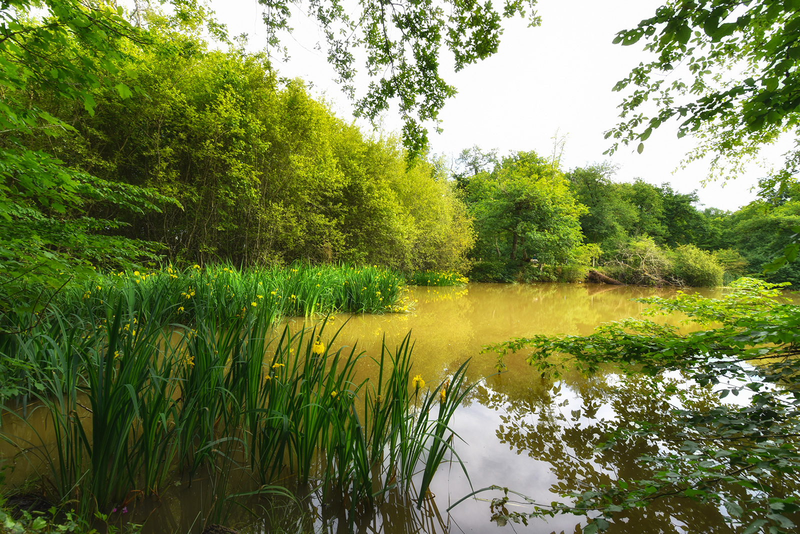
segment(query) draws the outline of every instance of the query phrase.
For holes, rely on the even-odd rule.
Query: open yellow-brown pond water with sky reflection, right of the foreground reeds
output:
[[[645,384],[621,385],[611,372],[594,377],[566,373],[558,382],[544,380],[525,364],[523,354],[507,357],[509,371],[498,375],[494,355],[480,354],[481,346],[538,333],[588,334],[602,322],[638,317],[644,305],[632,298],[671,294],[674,290],[561,284],[474,284],[466,293],[417,289],[413,315],[349,317],[341,336],[342,340],[360,339],[361,348],[374,353],[382,333],[391,346],[411,329],[416,340],[414,372],[434,381],[472,358],[470,375],[482,383],[454,421],[454,430],[466,441],[458,454],[468,466],[471,488],[502,484],[549,503],[559,498],[559,491],[583,491],[618,477],[646,477],[633,460],[657,452],[663,444],[637,441],[602,452],[596,446],[620,421],[668,427],[674,406],[648,395]],[[365,372],[374,373],[374,369]],[[710,401],[710,393],[698,389],[696,402]],[[457,466],[443,470],[432,490],[438,509],[446,510],[470,492],[470,481]],[[410,512],[401,517],[409,520],[415,515]],[[369,532],[411,532],[396,529],[396,524],[384,516]],[[558,516],[547,522],[534,520],[526,530],[579,532],[581,525],[574,516]],[[454,508],[448,521],[431,528],[428,525],[424,532],[495,532],[500,527],[490,522],[488,503],[469,501]],[[686,500],[662,500],[641,512],[630,512],[614,528],[615,532],[730,531],[717,508]]]

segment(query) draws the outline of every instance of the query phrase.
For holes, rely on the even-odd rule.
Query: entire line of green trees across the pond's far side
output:
[[[727,213],[700,210],[694,193],[670,185],[617,183],[609,165],[565,172],[534,152],[474,147],[457,172],[435,157],[409,161],[398,138],[335,117],[266,56],[241,44],[211,50],[202,17],[150,11],[105,62],[67,35],[45,58],[58,69],[31,68],[36,76],[4,91],[14,117],[35,120],[0,133],[0,293],[57,288],[62,273],[91,276],[137,254],[477,281],[579,281],[598,269],[626,283],[721,285],[758,273],[800,224],[790,193]],[[147,243],[157,245],[150,257]],[[800,283],[800,271],[789,264],[770,281]]]

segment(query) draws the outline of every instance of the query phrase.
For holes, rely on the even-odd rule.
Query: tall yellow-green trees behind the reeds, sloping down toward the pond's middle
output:
[[[57,86],[38,87],[36,105],[74,131],[22,140],[70,168],[179,203],[159,212],[88,202],[90,217],[122,224],[106,231],[157,242],[176,264],[466,269],[474,231],[442,165],[408,165],[398,138],[366,137],[302,81],[281,82],[261,54],[210,50],[194,26],[147,18],[149,45],[118,65],[130,97],[100,87],[89,113]]]

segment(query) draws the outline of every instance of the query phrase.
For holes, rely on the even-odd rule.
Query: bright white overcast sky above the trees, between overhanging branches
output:
[[[443,71],[458,94],[440,114],[442,134],[430,134],[431,151],[456,157],[462,149],[478,145],[485,150],[497,148],[500,153],[535,150],[550,154],[558,131],[559,136],[567,136],[562,157],[565,169],[609,159],[619,165],[618,181],[641,177],[656,185],[668,181],[681,193],[698,189],[706,207],[733,210],[747,204],[755,197],[750,188],[765,169],[751,165],[733,181],[703,187],[700,181],[707,176],[706,163],[675,170],[694,141],[679,140],[674,126],[662,126],[646,142],[642,154],[624,147],[611,158],[603,155],[610,145],[603,132],[616,124],[622,100],[611,88],[647,58],[641,45],[623,47],[611,41],[618,30],[650,17],[661,3],[540,0],[542,26],[528,28],[521,19],[506,21],[497,54],[458,74]],[[266,45],[262,8],[256,0],[212,0],[211,6],[231,35],[248,34],[250,50],[262,50]],[[334,82],[324,42],[323,51],[314,50],[316,43],[322,42],[322,34],[302,14],[292,18],[292,26],[294,34],[283,42],[290,49],[290,61],[274,66],[282,76],[313,83],[312,93],[324,96],[339,117],[351,120],[350,101]],[[445,57],[443,52],[443,65],[448,63]],[[368,82],[366,74],[361,82]],[[383,128],[399,131],[402,124],[396,109],[393,111],[383,119]],[[765,154],[777,166],[783,151],[771,147]]]

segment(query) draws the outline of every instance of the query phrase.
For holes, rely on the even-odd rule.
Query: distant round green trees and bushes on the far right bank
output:
[[[564,172],[533,152],[478,147],[457,162],[478,232],[476,281],[579,281],[597,269],[629,284],[723,285],[760,276],[800,225],[800,190],[731,213],[700,209],[696,192],[669,184],[614,181],[609,164]],[[766,278],[800,284],[800,270]]]

